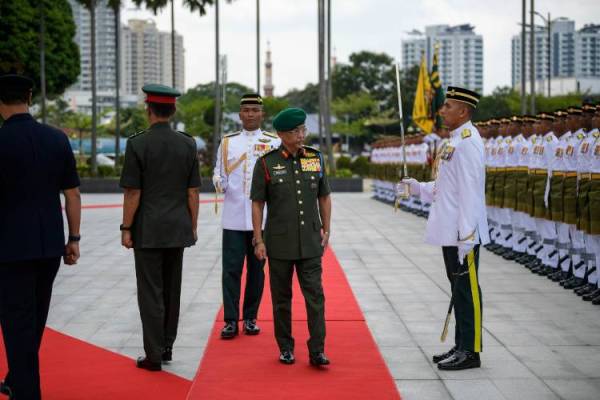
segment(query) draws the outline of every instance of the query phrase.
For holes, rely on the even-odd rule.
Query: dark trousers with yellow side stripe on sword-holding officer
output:
[[[458,247],[442,247],[446,275],[454,298],[456,319],[455,345],[459,350],[479,353],[482,350],[482,298],[479,286],[479,245],[458,261]]]

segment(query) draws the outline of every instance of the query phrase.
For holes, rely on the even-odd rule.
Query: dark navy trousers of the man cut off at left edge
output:
[[[41,398],[38,353],[60,257],[0,263],[0,325],[16,399]]]

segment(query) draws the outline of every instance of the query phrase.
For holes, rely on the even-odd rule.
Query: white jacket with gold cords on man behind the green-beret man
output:
[[[223,229],[252,230],[250,188],[254,164],[260,156],[278,148],[280,144],[277,135],[260,129],[253,132],[242,130],[223,136],[213,172],[215,179],[220,178],[221,188],[225,192]]]

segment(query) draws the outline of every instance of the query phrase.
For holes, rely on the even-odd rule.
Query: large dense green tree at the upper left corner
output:
[[[43,4],[40,4],[40,1]],[[79,76],[79,49],[67,0],[0,1],[0,73],[19,72],[40,80],[40,9],[46,21],[46,92],[61,95]]]

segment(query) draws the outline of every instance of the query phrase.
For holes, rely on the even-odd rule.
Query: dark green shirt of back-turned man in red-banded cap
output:
[[[196,142],[166,122],[127,141],[121,187],[141,189],[131,234],[136,249],[194,244],[187,190],[200,187]]]

